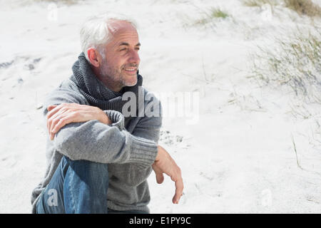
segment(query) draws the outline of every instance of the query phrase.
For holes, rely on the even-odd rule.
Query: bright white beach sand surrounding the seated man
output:
[[[134,3],[135,2],[135,3]],[[309,20],[277,6],[250,8],[221,1],[79,1],[66,6],[0,1],[0,213],[31,212],[31,191],[45,170],[44,97],[71,75],[80,53],[78,29],[93,12],[115,11],[138,23],[140,73],[155,92],[198,92],[198,123],[164,118],[161,145],[183,172],[185,195],[149,178],[153,213],[320,213],[321,153],[315,119],[290,113],[281,90],[248,76],[258,44]],[[320,1],[315,1],[320,2]],[[57,6],[57,14],[51,14]],[[193,26],[220,7],[227,19]],[[315,23],[320,24],[320,19]],[[8,66],[5,66],[8,65]],[[166,108],[166,107],[164,107]],[[295,150],[291,135],[295,139]],[[320,135],[319,135],[320,137]],[[320,140],[320,138],[319,138]]]

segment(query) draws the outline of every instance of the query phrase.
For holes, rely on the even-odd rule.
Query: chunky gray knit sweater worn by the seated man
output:
[[[145,96],[152,95],[146,89],[142,87],[141,89]],[[145,100],[141,105],[146,108],[151,102],[159,103],[153,98],[152,101]],[[71,78],[63,81],[61,86],[46,98],[44,120],[47,114],[46,107],[60,103],[90,105]],[[161,114],[161,103],[159,105]],[[143,111],[143,108],[139,110]],[[151,174],[151,165],[156,159],[162,118],[145,115],[130,118],[125,123],[125,118],[120,112],[116,110],[104,110],[104,112],[112,120],[111,125],[105,125],[98,120],[69,123],[59,130],[54,140],[49,139],[46,130],[47,167],[44,179],[31,195],[33,213],[36,212],[39,195],[49,184],[63,155],[71,160],[108,163],[108,208],[149,212],[147,205],[151,197],[146,179]],[[46,128],[46,122],[44,127]]]

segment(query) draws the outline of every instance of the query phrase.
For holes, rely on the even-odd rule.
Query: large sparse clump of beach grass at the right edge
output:
[[[321,105],[321,32],[298,30],[287,38],[275,38],[276,47],[259,47],[253,76],[265,84],[288,86],[297,96]]]

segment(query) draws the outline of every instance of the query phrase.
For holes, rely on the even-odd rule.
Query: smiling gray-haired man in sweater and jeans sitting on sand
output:
[[[161,105],[141,87],[136,26],[95,16],[81,29],[81,45],[73,76],[46,98],[48,167],[32,193],[33,212],[148,213],[152,170],[158,183],[163,173],[175,182],[177,204],[183,180],[158,145]],[[126,93],[137,98],[130,116]],[[139,94],[153,99],[141,102]],[[148,107],[156,115],[142,115]]]

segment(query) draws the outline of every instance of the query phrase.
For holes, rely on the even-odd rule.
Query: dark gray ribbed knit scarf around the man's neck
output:
[[[83,52],[78,56],[78,61],[73,63],[72,70],[71,80],[76,83],[81,94],[91,105],[101,110],[116,110],[122,113],[123,105],[128,102],[121,100],[122,95],[131,91],[136,94],[136,110],[138,111],[138,86],[143,84],[143,77],[140,74],[137,73],[138,80],[135,86],[126,86],[121,91],[114,92],[98,80]]]

